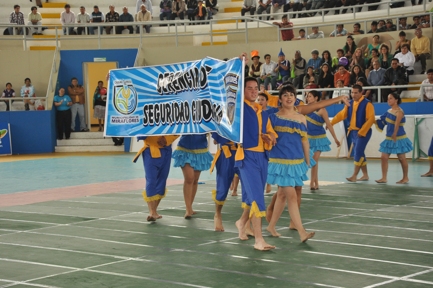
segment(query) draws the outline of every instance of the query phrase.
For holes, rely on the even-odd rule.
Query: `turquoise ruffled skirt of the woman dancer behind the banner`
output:
[[[204,153],[191,153],[182,150],[174,150],[171,154],[174,159],[173,167],[184,167],[189,163],[194,170],[205,171],[210,169],[213,156],[209,151]]]

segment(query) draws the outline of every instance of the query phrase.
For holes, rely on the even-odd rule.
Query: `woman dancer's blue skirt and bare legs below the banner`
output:
[[[192,214],[197,214],[192,209],[192,203],[197,193],[198,178],[201,171],[210,169],[213,160],[206,134],[182,135],[171,157],[174,159],[173,167],[181,167],[184,174],[185,218],[190,218]]]

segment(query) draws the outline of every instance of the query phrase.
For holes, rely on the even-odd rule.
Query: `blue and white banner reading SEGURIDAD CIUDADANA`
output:
[[[243,77],[239,58],[110,70],[104,136],[216,132],[241,143]]]

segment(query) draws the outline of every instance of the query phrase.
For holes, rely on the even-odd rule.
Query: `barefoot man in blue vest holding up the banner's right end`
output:
[[[245,64],[249,62],[246,53]],[[239,56],[242,59],[242,56]],[[242,181],[242,208],[241,218],[236,221],[239,238],[247,240],[245,224],[251,218],[252,229],[255,235],[254,248],[270,250],[275,248],[265,242],[262,236],[262,217],[266,216],[265,189],[268,174],[268,149],[276,143],[276,133],[271,127],[268,114],[262,111],[262,106],[255,103],[259,96],[257,79],[246,77],[244,79],[244,111],[243,111],[243,143],[238,147],[235,157],[235,167],[239,169],[239,178]]]

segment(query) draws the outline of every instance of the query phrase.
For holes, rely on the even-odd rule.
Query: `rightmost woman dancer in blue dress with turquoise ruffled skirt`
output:
[[[414,147],[412,147],[412,142],[407,138],[403,128],[406,118],[404,117],[403,110],[398,107],[400,103],[400,95],[397,93],[388,95],[388,105],[391,106],[391,109],[386,111],[375,122],[376,128],[381,132],[385,125],[388,125],[386,128],[386,139],[382,141],[379,148],[379,151],[382,152],[382,179],[376,180],[377,183],[387,182],[388,158],[391,154],[397,154],[401,168],[403,168],[403,179],[397,183],[407,183],[409,181],[409,178],[407,178],[406,153],[412,151]]]

